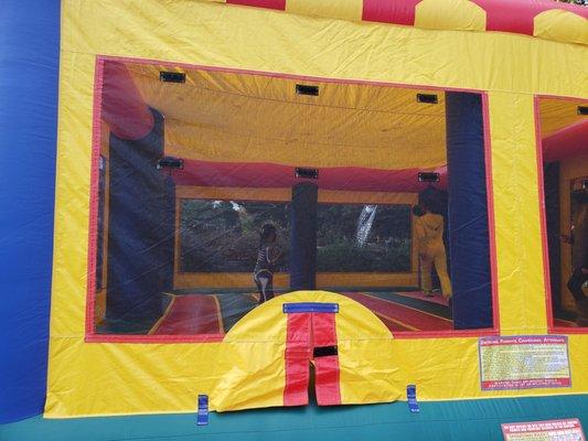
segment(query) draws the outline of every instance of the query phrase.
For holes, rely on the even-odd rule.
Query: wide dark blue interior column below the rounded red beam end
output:
[[[173,288],[175,186],[156,164],[163,155],[163,116],[146,137],[110,135],[110,200],[106,319],[145,326],[162,312],[161,293]]]

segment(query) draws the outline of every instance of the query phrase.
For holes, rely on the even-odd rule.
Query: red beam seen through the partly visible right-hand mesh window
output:
[[[588,154],[588,119],[568,126],[543,140],[544,162]]]

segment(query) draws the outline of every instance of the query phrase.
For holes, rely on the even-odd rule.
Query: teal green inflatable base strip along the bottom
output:
[[[195,406],[195,402],[194,402]],[[502,422],[579,418],[588,426],[588,395],[373,406],[276,408],[191,415],[44,420],[0,426],[2,441],[118,440],[501,440]]]

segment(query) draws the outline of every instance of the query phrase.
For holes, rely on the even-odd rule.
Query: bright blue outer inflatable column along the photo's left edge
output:
[[[45,401],[60,8],[0,2],[0,423]]]

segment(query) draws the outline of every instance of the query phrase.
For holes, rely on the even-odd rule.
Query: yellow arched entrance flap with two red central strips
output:
[[[224,337],[235,367],[213,402],[218,410],[306,406],[310,365],[319,406],[394,401],[404,385],[395,380],[391,341],[384,323],[354,300],[325,291],[280,295]]]

